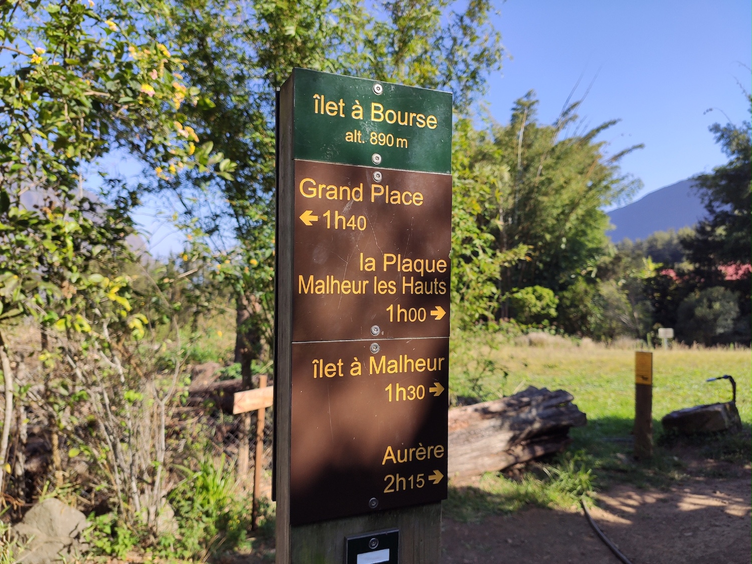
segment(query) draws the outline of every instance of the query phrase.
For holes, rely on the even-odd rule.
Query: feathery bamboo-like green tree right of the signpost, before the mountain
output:
[[[553,125],[541,125],[538,101],[529,92],[514,104],[510,122],[492,125],[472,156],[476,169],[487,169],[498,186],[478,222],[502,252],[531,247],[528,261],[500,273],[502,293],[532,285],[566,288],[572,275],[602,255],[608,225],[602,208],[638,186],[620,173],[618,162],[639,146],[605,155],[606,143],[596,137],[616,122],[579,133],[579,104]]]

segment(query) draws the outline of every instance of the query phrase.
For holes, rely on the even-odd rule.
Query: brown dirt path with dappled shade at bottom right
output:
[[[618,486],[593,518],[633,564],[752,562],[752,472],[696,479],[668,491]],[[618,562],[581,512],[531,508],[481,523],[445,519],[441,564]]]

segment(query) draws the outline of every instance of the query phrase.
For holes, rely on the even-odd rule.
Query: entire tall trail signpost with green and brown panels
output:
[[[447,92],[295,69],[277,101],[277,562],[438,562]]]

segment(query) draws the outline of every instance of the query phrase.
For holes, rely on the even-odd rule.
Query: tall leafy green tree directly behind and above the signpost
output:
[[[229,159],[224,170],[232,176],[184,170],[151,189],[176,192],[186,216],[201,220],[235,292],[236,360],[246,379],[251,360],[271,344],[274,89],[297,66],[451,89],[465,110],[501,62],[490,4],[472,0],[454,11],[447,0],[191,0],[172,2],[144,26],[180,51],[186,80],[211,98],[186,111],[199,136]]]

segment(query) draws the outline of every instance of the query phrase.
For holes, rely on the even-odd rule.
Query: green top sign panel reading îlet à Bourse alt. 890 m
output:
[[[296,68],[294,158],[451,172],[452,95]]]

